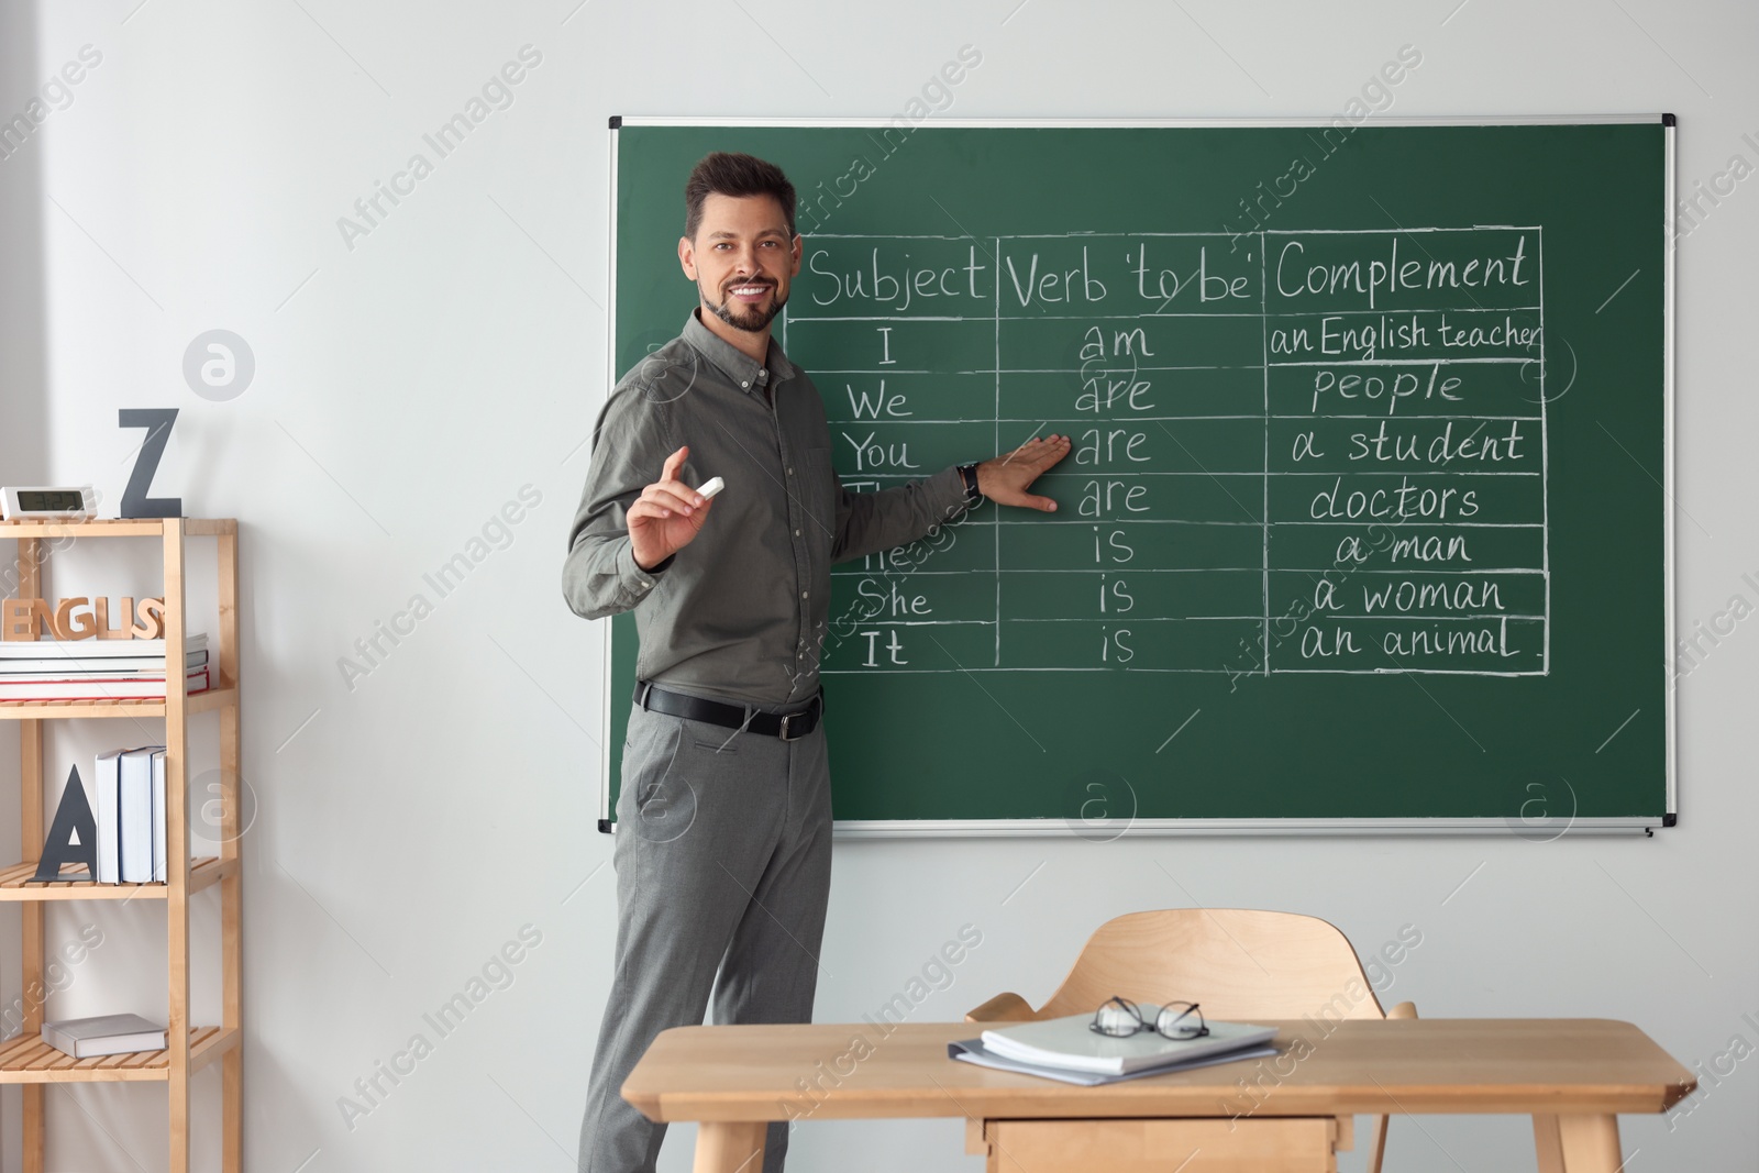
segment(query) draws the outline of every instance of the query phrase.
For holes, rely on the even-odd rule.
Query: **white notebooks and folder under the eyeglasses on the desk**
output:
[[[1154,1008],[1143,1009],[1152,1022]],[[1092,1015],[1020,1022],[985,1031],[976,1039],[948,1043],[946,1053],[980,1067],[1084,1087],[1277,1053],[1270,1045],[1277,1029],[1249,1022],[1210,1022],[1210,1032],[1196,1039],[1170,1039],[1152,1031],[1119,1039],[1091,1031],[1091,1024]]]

